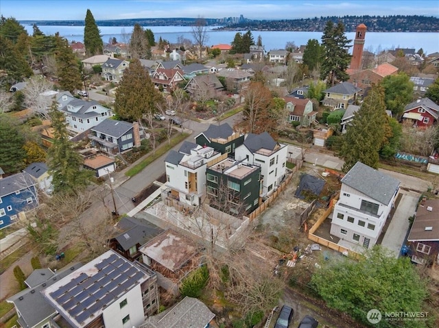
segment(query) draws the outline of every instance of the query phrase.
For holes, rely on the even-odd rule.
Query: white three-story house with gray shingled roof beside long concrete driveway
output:
[[[376,243],[394,206],[400,181],[357,162],[342,179],[331,234],[366,249]]]

